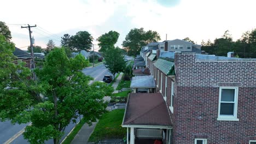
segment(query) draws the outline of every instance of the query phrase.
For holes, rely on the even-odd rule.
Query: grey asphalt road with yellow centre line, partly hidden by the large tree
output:
[[[94,81],[102,81],[104,75],[111,75],[109,71],[106,69],[106,67],[103,64],[97,65],[96,67],[91,68],[85,68],[83,70],[83,73],[85,75],[90,75],[94,77]],[[91,81],[92,82],[92,81]],[[82,118],[82,117],[81,117]],[[77,119],[79,120],[79,118]],[[11,137],[13,137],[15,134],[17,134],[19,131],[24,129],[28,124],[11,124],[10,121],[7,122],[0,122],[0,143],[4,143],[7,140],[9,140]],[[66,135],[73,129],[75,126],[75,123],[69,123],[69,125],[65,129],[65,135],[62,137],[61,140],[63,140]],[[23,144],[28,143],[27,140],[24,139],[23,135],[16,137],[16,139],[11,142],[15,144]],[[53,140],[46,141],[45,143],[53,143]]]

